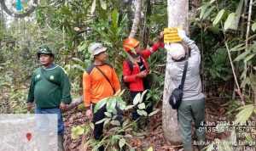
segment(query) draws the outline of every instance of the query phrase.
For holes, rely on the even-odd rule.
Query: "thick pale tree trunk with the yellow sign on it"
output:
[[[189,1],[187,0],[168,0],[168,27],[183,26],[183,30],[189,29]],[[171,58],[167,52],[167,60]],[[172,109],[168,103],[173,87],[170,87],[171,77],[166,71],[164,100],[163,100],[163,131],[166,139],[173,145],[181,143],[180,131],[177,122],[177,111]]]

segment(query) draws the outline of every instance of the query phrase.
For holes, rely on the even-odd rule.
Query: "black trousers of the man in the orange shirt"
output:
[[[93,109],[95,107],[96,104],[93,104]],[[122,120],[122,116],[121,116],[121,110],[119,108],[117,108],[117,118],[116,120],[119,120],[120,124],[123,124],[123,120]],[[106,105],[104,105],[101,109],[98,109],[96,111],[95,114],[93,114],[93,118],[92,118],[92,122],[94,123],[94,138],[96,139],[96,141],[101,141],[102,140],[102,135],[103,135],[103,126],[104,126],[104,122],[96,124],[97,121],[102,120],[105,118],[105,114],[104,112],[107,112],[106,109]],[[122,134],[125,135],[125,134]],[[104,148],[101,146],[99,148],[100,151],[104,150]]]

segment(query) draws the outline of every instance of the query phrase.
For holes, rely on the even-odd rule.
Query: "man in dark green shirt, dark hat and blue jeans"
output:
[[[71,103],[71,86],[65,70],[55,65],[55,56],[49,48],[41,48],[38,60],[41,67],[32,73],[26,108],[32,109],[35,101],[35,114],[56,114],[58,117],[58,151],[64,150],[64,124],[62,111]]]

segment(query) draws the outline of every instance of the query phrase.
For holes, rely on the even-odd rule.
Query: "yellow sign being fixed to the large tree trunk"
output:
[[[173,28],[165,28],[165,36],[164,42],[181,42],[182,39],[177,34],[177,29],[182,29],[182,27],[173,27]]]

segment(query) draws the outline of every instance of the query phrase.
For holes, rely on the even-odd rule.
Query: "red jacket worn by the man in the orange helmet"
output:
[[[149,73],[149,71],[148,71],[148,64],[146,62],[146,59],[148,59],[148,57],[152,53],[156,52],[159,48],[164,47],[163,43],[160,43],[159,47],[157,47],[157,45],[158,45],[157,42],[154,42],[154,44],[151,48],[148,48],[141,52],[142,55],[140,58],[143,60],[143,64],[146,67],[147,73]],[[130,83],[130,91],[131,92],[143,92],[144,91],[143,80],[139,77],[136,77],[136,75],[140,72],[141,72],[141,70],[140,70],[140,67],[138,66],[138,64],[133,64],[133,70],[131,71],[129,64],[126,61],[123,62],[124,81]]]

